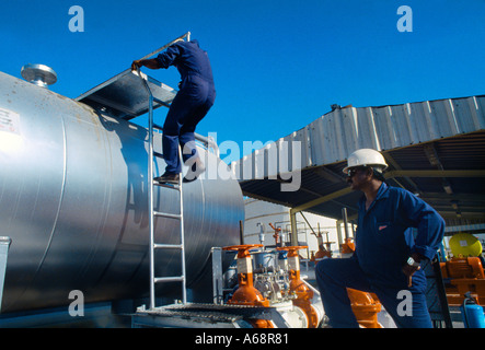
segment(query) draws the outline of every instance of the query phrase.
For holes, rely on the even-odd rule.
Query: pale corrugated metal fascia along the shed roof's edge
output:
[[[244,180],[270,178],[344,161],[361,148],[385,151],[483,129],[484,95],[337,108],[244,156],[233,165],[233,172]]]

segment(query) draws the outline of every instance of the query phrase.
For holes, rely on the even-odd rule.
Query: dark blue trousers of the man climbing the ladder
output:
[[[188,75],[184,79],[163,125],[162,147],[166,173],[182,173],[178,144],[182,148],[184,162],[197,154],[195,128],[209,112],[215,100],[213,83],[197,75]]]

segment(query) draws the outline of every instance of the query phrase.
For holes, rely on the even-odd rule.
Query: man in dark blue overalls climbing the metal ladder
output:
[[[197,40],[180,39],[155,58],[134,61],[131,69],[136,70],[141,66],[150,69],[175,66],[182,79],[178,84],[180,91],[169,108],[163,125],[162,147],[166,163],[165,172],[154,180],[178,183],[182,173],[178,158],[180,144],[183,161],[190,166],[184,182],[192,182],[205,171],[205,165],[195,147],[195,128],[216,100],[209,57],[199,47]]]

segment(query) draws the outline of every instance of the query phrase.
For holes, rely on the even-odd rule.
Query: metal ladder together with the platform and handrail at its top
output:
[[[142,59],[148,59],[178,40],[189,40],[190,32],[175,38],[169,44],[159,49],[148,54]],[[84,103],[93,108],[105,108],[116,118],[124,120],[131,120],[132,118],[146,115],[148,113],[149,121],[149,164],[148,176],[153,178],[153,162],[154,158],[163,158],[163,154],[153,151],[153,130],[160,129],[153,122],[153,110],[159,107],[170,107],[172,101],[176,96],[176,90],[157,81],[155,79],[143,74],[142,72],[132,71],[131,68],[116,74],[104,83],[93,88],[86,93],[79,96],[76,101]],[[163,131],[163,130],[162,130]],[[219,158],[219,150],[215,140],[210,137],[204,137],[195,132],[195,139],[207,147],[209,153],[213,151],[215,155]],[[181,152],[178,152],[182,155]],[[183,176],[180,176],[182,179]],[[165,187],[160,190],[160,194],[166,194],[166,190],[175,190],[180,196],[180,211],[177,213],[164,213],[154,210],[154,188],[158,186]],[[178,281],[182,283],[182,302],[186,303],[186,271],[185,271],[185,242],[184,242],[184,205],[183,205],[183,188],[182,183],[178,184],[154,184],[149,182],[148,186],[148,208],[149,208],[149,229],[150,229],[150,308],[155,307],[155,284],[163,282]],[[181,240],[177,244],[165,244],[154,242],[154,222],[155,218],[165,218],[169,220],[180,221]],[[165,235],[166,236],[166,235]],[[155,250],[171,249],[181,252],[181,275],[173,277],[158,277],[155,276]]]

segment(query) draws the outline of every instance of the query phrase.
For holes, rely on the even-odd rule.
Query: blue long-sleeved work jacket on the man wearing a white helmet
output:
[[[368,210],[366,197],[359,201],[354,257],[371,283],[407,289],[402,272],[407,258],[417,252],[432,259],[443,234],[444,220],[435,209],[409,191],[382,183]],[[413,287],[426,287],[423,269],[413,275]]]

